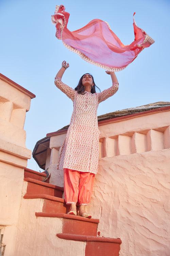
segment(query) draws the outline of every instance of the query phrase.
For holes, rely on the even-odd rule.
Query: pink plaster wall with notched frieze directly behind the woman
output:
[[[100,160],[91,205],[101,236],[121,238],[120,256],[169,256],[170,111],[99,126]],[[50,138],[50,182],[66,134]]]

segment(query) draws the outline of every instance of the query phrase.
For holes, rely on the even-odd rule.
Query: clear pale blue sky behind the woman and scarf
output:
[[[130,44],[134,41],[133,13],[136,12],[137,26],[155,40],[127,68],[115,72],[119,90],[100,103],[98,115],[170,101],[170,1],[0,0],[0,73],[36,95],[24,126],[26,146],[31,150],[48,132],[70,123],[72,101],[54,85],[54,77],[63,60],[70,64],[63,82],[72,88],[86,72],[94,76],[101,91],[112,85],[103,69],[85,62],[55,37],[51,15],[55,5],[60,4],[70,13],[68,29],[71,31],[99,18],[109,23],[123,44]],[[33,158],[28,161],[28,168],[40,170]]]

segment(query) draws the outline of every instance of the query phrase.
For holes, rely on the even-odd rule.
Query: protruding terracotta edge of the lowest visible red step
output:
[[[75,240],[75,241],[84,241],[84,242],[105,242],[105,243],[117,243],[117,244],[122,243],[120,238],[84,236],[84,235],[66,234],[66,233],[58,233],[56,234],[56,236],[66,240]]]

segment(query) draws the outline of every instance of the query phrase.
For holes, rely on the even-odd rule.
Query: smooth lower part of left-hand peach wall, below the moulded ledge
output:
[[[0,226],[6,226],[3,243],[6,244],[5,256],[13,255],[17,221],[23,185],[23,171],[21,168],[0,162]]]

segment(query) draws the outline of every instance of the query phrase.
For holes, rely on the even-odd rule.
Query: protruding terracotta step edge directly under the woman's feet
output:
[[[45,212],[36,212],[37,217],[54,217],[54,218],[64,218],[64,219],[75,219],[76,221],[85,221],[92,223],[99,223],[99,219],[90,219],[81,216],[75,216],[67,213],[45,213]]]

